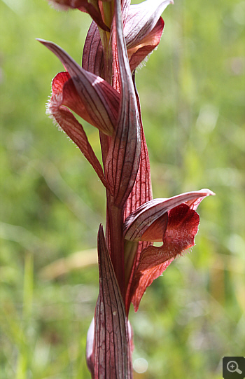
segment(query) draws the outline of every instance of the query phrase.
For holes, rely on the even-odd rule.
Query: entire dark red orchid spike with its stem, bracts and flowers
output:
[[[39,39],[64,65],[52,81],[47,112],[75,142],[106,190],[106,233],[99,227],[99,297],[87,333],[87,366],[94,379],[132,378],[130,303],[138,310],[153,280],[193,247],[196,209],[209,190],[153,199],[148,149],[135,69],[162,36],[171,0],[52,0],[89,13],[92,24],[82,67],[62,48]],[[76,115],[99,130],[102,164]],[[153,242],[162,242],[155,247]]]

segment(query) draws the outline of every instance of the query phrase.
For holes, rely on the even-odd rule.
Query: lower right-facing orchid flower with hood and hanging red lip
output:
[[[182,193],[169,199],[150,200],[125,219],[125,240],[131,244],[139,241],[151,242],[150,246],[141,251],[133,281],[127,289],[136,311],[146,287],[162,275],[167,266],[184,250],[194,246],[194,237],[200,223],[200,216],[195,210],[209,195],[214,193],[204,189]],[[162,242],[162,246],[153,246],[152,242]],[[127,249],[132,253],[132,247],[129,249],[129,246],[127,242]]]

